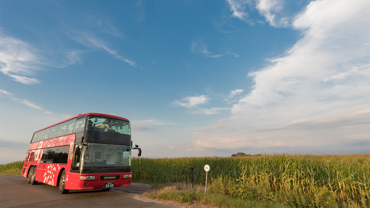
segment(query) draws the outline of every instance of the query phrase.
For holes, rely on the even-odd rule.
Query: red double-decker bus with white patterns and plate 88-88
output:
[[[69,190],[131,185],[130,122],[100,113],[78,114],[34,132],[22,175],[30,184]]]

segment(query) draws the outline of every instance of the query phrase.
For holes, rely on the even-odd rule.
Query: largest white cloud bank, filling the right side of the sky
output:
[[[194,131],[195,144],[346,148],[346,142],[369,141],[369,6],[312,1],[294,18],[302,38],[270,66],[250,73],[252,91],[233,105],[230,118]]]

